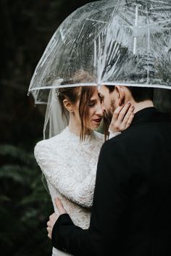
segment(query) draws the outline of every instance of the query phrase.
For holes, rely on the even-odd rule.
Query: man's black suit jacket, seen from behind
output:
[[[52,245],[79,256],[169,256],[170,205],[171,120],[148,107],[101,147],[90,228],[61,215]]]

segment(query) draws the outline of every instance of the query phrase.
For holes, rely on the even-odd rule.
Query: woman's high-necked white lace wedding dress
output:
[[[39,141],[35,157],[48,182],[54,211],[54,199],[62,199],[64,208],[75,225],[88,228],[93,191],[96,180],[96,165],[104,135],[93,131],[80,142],[80,137],[65,128],[51,139]],[[53,256],[68,255],[53,248]]]

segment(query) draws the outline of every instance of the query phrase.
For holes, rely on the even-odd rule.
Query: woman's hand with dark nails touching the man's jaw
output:
[[[114,110],[112,121],[109,125],[109,131],[112,131],[112,133],[117,133],[128,128],[133,121],[134,109],[135,107],[131,105],[130,102],[117,107],[117,109]]]

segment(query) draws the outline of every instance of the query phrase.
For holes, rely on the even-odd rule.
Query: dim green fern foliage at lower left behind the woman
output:
[[[46,222],[53,212],[33,154],[0,145],[0,241],[6,255],[51,255]]]

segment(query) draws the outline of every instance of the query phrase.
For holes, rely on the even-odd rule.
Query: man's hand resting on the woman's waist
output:
[[[55,199],[55,205],[57,206],[59,215],[67,213],[67,211],[64,209],[62,202],[59,198]],[[49,221],[47,222],[47,228],[46,228],[48,231],[49,239],[51,239],[52,229],[54,227],[54,223],[56,223],[57,219],[59,218],[59,215],[57,215],[57,213],[54,212],[52,215],[49,216]]]

